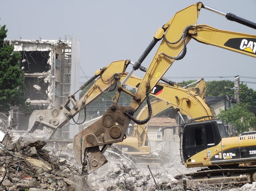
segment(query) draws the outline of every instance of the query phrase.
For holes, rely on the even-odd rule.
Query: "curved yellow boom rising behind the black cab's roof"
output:
[[[120,74],[120,80],[127,74]],[[138,88],[141,78],[131,76],[126,82],[127,85]],[[209,118],[216,118],[216,114],[212,108],[206,104],[205,94],[206,85],[204,79],[201,79],[196,87],[180,87],[176,84],[168,85],[165,83],[157,83],[157,85],[150,92],[151,95],[166,101],[179,110],[181,114],[188,116],[188,118],[198,118],[208,116]],[[151,103],[152,104],[152,103]],[[154,108],[154,107],[153,107]],[[195,112],[196,111],[196,112]],[[146,118],[138,114],[137,119]]]

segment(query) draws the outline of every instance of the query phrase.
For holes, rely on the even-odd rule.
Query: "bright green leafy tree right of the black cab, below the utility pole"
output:
[[[221,120],[228,120],[229,123],[236,127],[238,133],[246,132],[250,128],[255,129],[256,118],[254,114],[248,110],[248,103],[234,104],[233,107],[228,108],[226,111],[221,110],[218,118]]]

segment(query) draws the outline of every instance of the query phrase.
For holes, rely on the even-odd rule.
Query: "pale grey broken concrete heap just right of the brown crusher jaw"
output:
[[[152,191],[177,187],[177,180],[159,166],[156,167],[158,171],[153,169],[151,174],[150,167],[137,167],[126,158],[115,157],[112,152],[106,152],[105,156],[108,163],[87,177],[95,191]]]

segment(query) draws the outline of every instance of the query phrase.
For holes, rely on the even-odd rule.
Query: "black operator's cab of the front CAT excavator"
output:
[[[222,138],[226,137],[228,137],[228,134],[221,120],[186,124],[180,139],[182,163],[185,163],[185,161],[193,162],[191,161],[192,156],[218,145]]]

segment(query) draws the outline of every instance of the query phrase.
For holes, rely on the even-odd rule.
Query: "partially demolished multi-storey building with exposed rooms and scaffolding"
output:
[[[79,89],[80,40],[66,35],[64,40],[5,40],[22,55],[27,107],[13,107],[9,121],[15,130],[27,130],[32,110],[59,106]],[[76,95],[78,96],[78,95]],[[73,138],[75,127],[66,124],[58,138]],[[76,128],[78,129],[78,128]]]

